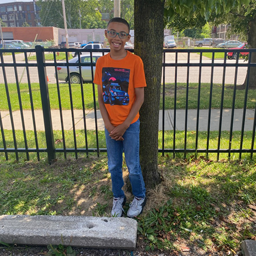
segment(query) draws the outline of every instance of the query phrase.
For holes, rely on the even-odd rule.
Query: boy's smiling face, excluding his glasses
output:
[[[120,33],[120,32],[128,33],[129,32],[128,27],[125,24],[119,23],[119,22],[111,22],[107,26],[107,30],[114,31],[117,33]],[[126,36],[126,38],[120,38],[118,36],[118,34],[116,34],[115,37],[111,37],[107,33],[107,30],[105,30],[105,37],[107,38],[108,43],[110,45],[110,50],[114,50],[114,51],[123,50],[125,42],[127,42],[130,39],[130,35],[128,34]]]

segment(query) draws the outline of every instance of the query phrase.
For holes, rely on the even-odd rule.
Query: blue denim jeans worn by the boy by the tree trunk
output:
[[[111,174],[114,197],[124,197],[122,186],[122,152],[124,151],[132,193],[137,197],[145,197],[145,183],[139,163],[139,119],[126,129],[121,140],[114,140],[105,128],[108,170]]]

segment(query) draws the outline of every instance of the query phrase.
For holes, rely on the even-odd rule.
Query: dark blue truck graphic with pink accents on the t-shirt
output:
[[[102,96],[105,104],[129,104],[130,69],[117,67],[102,68]]]

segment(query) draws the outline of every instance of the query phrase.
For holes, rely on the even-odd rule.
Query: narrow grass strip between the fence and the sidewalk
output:
[[[18,148],[24,148],[24,136],[22,130],[16,130],[16,141]],[[14,148],[13,144],[13,134],[11,130],[4,130],[4,136],[6,140],[7,148]],[[62,141],[62,134],[60,130],[54,130],[53,136],[55,140],[55,148],[63,148],[63,141]],[[66,148],[74,148],[74,138],[73,138],[73,131],[65,130],[65,145]],[[186,148],[195,148],[195,131],[187,131],[187,141],[186,141]],[[232,143],[231,148],[238,149],[240,146],[240,131],[233,131],[232,133]],[[35,138],[34,133],[31,130],[26,130],[26,137],[27,137],[27,144],[28,148],[35,148]],[[206,131],[199,131],[198,133],[198,148],[206,148],[206,138],[207,132]],[[252,138],[252,131],[245,131],[243,135],[243,144],[242,148],[250,148],[251,147],[251,138]],[[39,148],[46,148],[45,142],[45,134],[43,131],[37,131],[37,139],[38,139],[38,146]],[[85,148],[85,136],[84,130],[76,130],[75,134],[76,145],[77,148]],[[209,148],[217,148],[217,139],[218,139],[218,131],[211,131],[209,135]],[[88,148],[96,148],[96,132],[94,130],[87,130],[87,140],[88,140]],[[221,132],[221,139],[220,139],[220,148],[228,148],[229,145],[229,131],[222,131]],[[106,148],[105,145],[105,136],[104,131],[98,131],[98,143],[99,148]],[[158,132],[158,147],[162,147],[162,131]],[[3,148],[2,140],[0,140],[0,148]],[[167,130],[164,132],[164,148],[173,148],[173,131]],[[184,148],[184,131],[176,131],[175,137],[175,148]],[[74,153],[68,153],[69,156],[74,156]],[[78,155],[84,155],[84,153],[80,153]],[[177,153],[177,157],[182,158],[183,153]],[[187,154],[186,157],[192,157],[194,153]],[[204,156],[204,153],[199,153],[198,156]],[[231,153],[230,158],[235,160],[238,159],[238,153]],[[8,153],[10,158],[15,158],[14,153]],[[30,159],[36,159],[36,153],[29,153]],[[210,159],[216,159],[216,153],[209,153],[208,154]],[[227,153],[220,153],[219,158],[226,159],[228,156]],[[249,159],[249,153],[242,153],[242,158]],[[25,158],[25,153],[19,153],[20,159]],[[56,157],[63,158],[63,153],[56,153]],[[255,157],[255,154],[254,154]],[[40,153],[40,158],[46,159],[46,153]],[[5,159],[5,154],[0,153],[0,160]]]

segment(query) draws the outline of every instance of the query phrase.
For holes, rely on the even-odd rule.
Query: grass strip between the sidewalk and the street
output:
[[[0,100],[0,110],[8,110],[8,103],[6,98],[6,93],[4,89],[4,84],[0,84],[0,88],[3,91],[2,99]],[[39,90],[38,83],[32,83],[32,96],[33,96],[33,104],[34,109],[41,109],[41,96]],[[57,86],[54,83],[48,84],[49,88],[49,99],[51,109],[59,109],[58,105],[58,96],[57,96]],[[69,89],[67,83],[60,83],[60,97],[61,97],[61,107],[62,109],[70,109],[70,97],[69,97]],[[18,95],[17,88],[15,83],[8,84],[8,90],[10,94],[10,101],[12,110],[18,110]],[[200,109],[207,109],[209,102],[209,84],[202,83],[201,84],[201,93],[200,93]],[[82,109],[82,100],[81,100],[81,88],[79,84],[71,85],[72,91],[72,99],[73,99],[73,108],[74,109]],[[84,103],[85,109],[93,108],[93,90],[91,83],[83,84],[84,91]],[[21,92],[21,100],[22,107],[24,110],[31,109],[28,86],[26,83],[20,84],[20,92]],[[237,89],[235,95],[235,108],[243,108],[244,101],[244,89]],[[189,83],[189,93],[188,93],[188,108],[197,108],[197,94],[198,94],[198,84],[197,83]],[[219,108],[220,107],[220,95],[221,95],[221,85],[213,84],[212,89],[212,105],[211,108]],[[97,90],[95,88],[95,96],[97,99]],[[232,106],[232,98],[233,98],[233,86],[226,85],[224,89],[224,108],[231,108]],[[165,109],[173,109],[174,105],[174,85],[167,83],[165,85]],[[247,99],[247,108],[254,109],[256,102],[256,94],[255,90],[248,90],[248,99]],[[184,83],[177,84],[177,101],[176,106],[177,109],[184,109],[186,103],[186,85]],[[96,106],[98,107],[97,100]],[[162,96],[160,99],[160,109],[162,109]]]

